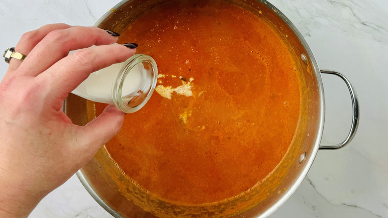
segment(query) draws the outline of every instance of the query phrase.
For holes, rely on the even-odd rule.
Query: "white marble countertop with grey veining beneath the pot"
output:
[[[0,49],[44,24],[92,25],[119,0],[1,0]],[[320,150],[300,187],[270,218],[388,218],[388,1],[270,0],[305,37],[322,69],[357,89],[360,126],[340,150]],[[0,79],[7,64],[0,61]],[[323,76],[324,144],[342,141],[351,101],[339,78]],[[76,176],[44,198],[30,218],[109,218]]]

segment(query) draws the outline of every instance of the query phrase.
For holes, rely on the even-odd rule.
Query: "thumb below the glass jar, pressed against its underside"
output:
[[[125,113],[117,109],[114,105],[108,105],[104,111],[94,120],[89,122],[81,132],[82,141],[88,145],[86,149],[91,156],[113,136],[115,136],[122,126]]]

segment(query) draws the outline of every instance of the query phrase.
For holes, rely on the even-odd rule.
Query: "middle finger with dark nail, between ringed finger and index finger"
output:
[[[54,30],[31,50],[19,67],[20,72],[23,75],[37,76],[66,57],[71,50],[88,48],[92,45],[107,45],[116,41],[117,37],[97,27],[74,26]]]

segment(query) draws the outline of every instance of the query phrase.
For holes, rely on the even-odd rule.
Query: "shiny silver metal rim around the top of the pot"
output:
[[[120,8],[124,3],[128,2],[130,0],[121,0],[119,3],[117,3],[115,6],[113,6],[110,10],[108,10],[105,14],[103,14],[98,20],[93,24],[93,26],[100,25],[111,13],[113,13],[116,9]],[[302,183],[304,178],[306,177],[308,171],[311,168],[311,165],[315,159],[315,156],[319,150],[320,142],[322,139],[323,134],[323,127],[324,127],[324,120],[325,120],[325,99],[324,99],[324,90],[323,90],[323,82],[320,74],[320,69],[318,67],[318,64],[315,60],[315,56],[312,53],[310,47],[308,46],[307,42],[305,41],[302,34],[299,32],[299,30],[295,27],[295,25],[291,22],[291,20],[283,13],[281,12],[277,7],[275,7],[272,3],[268,2],[267,0],[257,0],[261,3],[265,4],[267,7],[269,7],[271,10],[273,10],[295,33],[295,35],[300,40],[300,43],[303,45],[304,49],[307,52],[307,57],[309,57],[309,60],[312,64],[312,67],[315,72],[315,76],[317,79],[317,85],[318,85],[318,91],[319,91],[319,122],[318,122],[318,129],[317,129],[317,135],[315,138],[315,142],[312,148],[312,152],[309,155],[307,161],[303,170],[299,174],[298,178],[295,180],[295,182],[292,184],[291,188],[288,189],[285,193],[285,195],[280,198],[275,204],[273,204],[268,210],[266,210],[264,213],[259,215],[257,218],[266,218],[273,214],[276,210],[278,210],[290,197],[291,195],[296,191],[296,189],[299,187],[299,185]],[[87,179],[85,178],[85,175],[82,173],[81,170],[79,170],[77,173],[77,177],[81,181],[82,185],[85,187],[85,189],[89,192],[89,194],[97,201],[97,203],[105,209],[110,215],[112,215],[115,218],[124,218],[120,213],[113,210],[106,202],[104,202],[95,192],[95,190],[90,186]]]

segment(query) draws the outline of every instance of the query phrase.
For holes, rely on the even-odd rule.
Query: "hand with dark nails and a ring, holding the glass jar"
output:
[[[97,27],[66,24],[21,37],[15,51],[27,57],[12,58],[0,83],[0,217],[27,217],[119,131],[124,113],[114,106],[86,126],[61,111],[90,73],[135,53],[116,41]]]

